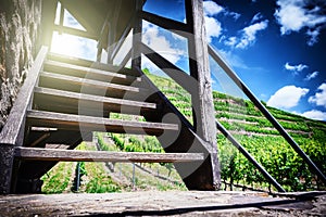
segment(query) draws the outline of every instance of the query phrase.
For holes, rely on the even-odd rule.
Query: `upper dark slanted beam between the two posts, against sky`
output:
[[[142,11],[140,14],[141,18],[155,24],[156,26],[160,26],[162,28],[165,28],[167,30],[171,30],[179,36],[183,36],[185,38],[188,38],[190,36],[189,31],[189,25],[184,24],[181,22],[177,22],[171,18],[166,18],[163,16],[159,16],[156,14],[147,12],[147,11]]]

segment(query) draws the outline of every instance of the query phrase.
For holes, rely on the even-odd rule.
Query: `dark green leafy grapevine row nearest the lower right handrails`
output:
[[[283,138],[256,136],[250,139],[246,136],[237,138],[287,191],[325,190],[325,186],[311,174],[308,165]],[[230,183],[269,187],[258,169],[224,137],[218,136],[217,141],[223,179]],[[301,139],[300,143],[303,151],[325,173],[326,148],[316,145],[315,141],[310,139]]]

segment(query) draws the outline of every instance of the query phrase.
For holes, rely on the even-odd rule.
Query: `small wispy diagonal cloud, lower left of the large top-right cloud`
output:
[[[236,48],[244,49],[255,42],[258,31],[264,30],[268,26],[268,20],[252,24],[242,29],[242,37]]]

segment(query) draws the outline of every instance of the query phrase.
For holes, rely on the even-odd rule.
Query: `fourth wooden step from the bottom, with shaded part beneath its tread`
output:
[[[74,92],[90,92],[92,94],[123,98],[126,92],[134,94],[147,94],[145,88],[103,82],[99,80],[79,78],[68,75],[42,72],[39,86],[62,89]]]

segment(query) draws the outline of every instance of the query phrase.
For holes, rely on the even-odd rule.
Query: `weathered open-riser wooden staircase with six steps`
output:
[[[60,161],[174,162],[189,189],[217,187],[216,153],[142,72],[45,49],[35,64],[14,105],[21,120],[9,119],[0,135],[2,144],[15,138],[10,192],[40,192],[40,177]],[[111,113],[133,118],[114,119]],[[156,136],[166,154],[75,151],[92,131]],[[59,149],[49,149],[54,144]]]

